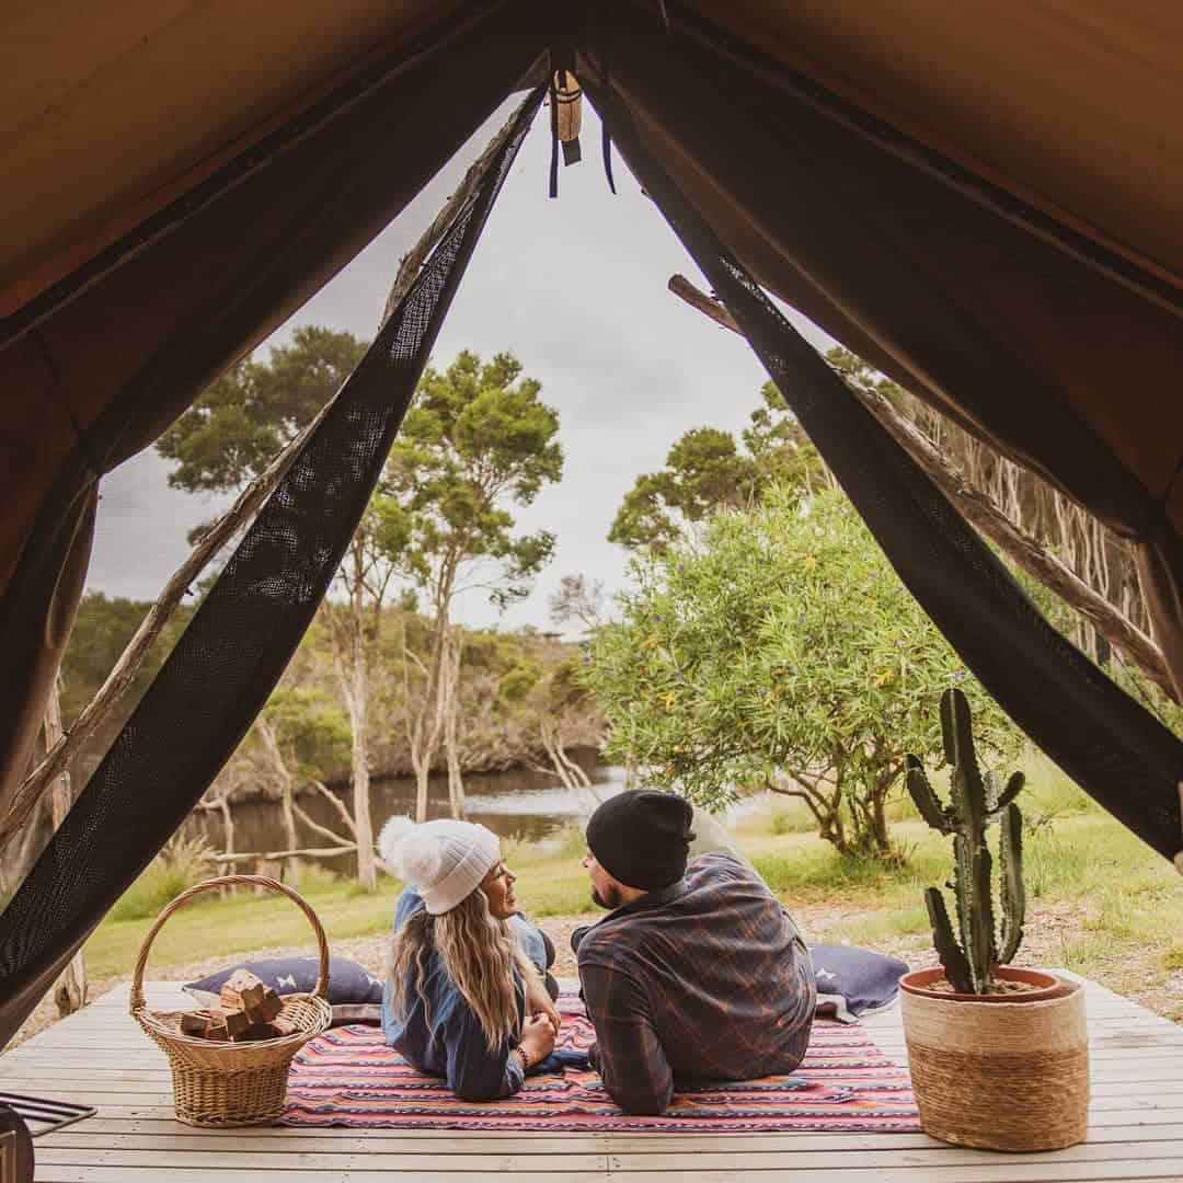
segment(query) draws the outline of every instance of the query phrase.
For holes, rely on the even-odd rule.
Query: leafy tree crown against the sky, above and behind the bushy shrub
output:
[[[670,448],[665,468],[636,478],[608,541],[659,552],[717,510],[754,505],[774,483],[802,492],[822,487],[817,450],[787,413],[781,393],[771,382],[759,393],[763,406],[741,433],[742,450],[729,432],[692,427]]]

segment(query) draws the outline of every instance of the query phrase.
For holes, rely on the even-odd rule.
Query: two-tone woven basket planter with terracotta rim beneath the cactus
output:
[[[1082,1142],[1088,1131],[1084,988],[1054,978],[1059,985],[1051,997],[975,1002],[924,991],[927,976],[905,974],[900,981],[925,1133],[988,1150],[1060,1150]]]

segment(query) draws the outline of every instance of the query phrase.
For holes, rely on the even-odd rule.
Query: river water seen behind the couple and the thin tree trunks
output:
[[[464,778],[470,821],[487,826],[502,838],[521,838],[528,842],[545,845],[557,841],[558,835],[571,825],[582,825],[595,807],[605,799],[619,793],[623,787],[625,770],[613,765],[596,764],[594,752],[571,754],[586,769],[593,781],[590,789],[571,790],[557,777],[542,772],[518,769],[510,772],[473,774]],[[583,758],[580,758],[580,757]],[[343,796],[348,803],[348,795]],[[447,817],[447,777],[433,776],[429,789],[429,814]],[[322,826],[341,832],[341,816],[329,801],[319,794],[299,797],[300,807]],[[374,815],[374,833],[395,814],[414,816],[415,782],[407,777],[375,780],[370,786],[370,808]],[[279,806],[272,801],[245,801],[233,806],[234,848],[238,851],[278,851],[284,847],[283,823]],[[332,843],[312,834],[297,822],[300,843],[305,847],[324,847]],[[203,834],[215,849],[225,848],[225,834],[218,814],[195,814],[186,826],[186,833]],[[313,860],[338,874],[351,874],[356,864],[351,855]],[[241,870],[250,870],[243,867]]]

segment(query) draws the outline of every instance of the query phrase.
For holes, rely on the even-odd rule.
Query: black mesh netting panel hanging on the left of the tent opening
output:
[[[218,775],[311,623],[542,93],[0,916],[0,1047]]]

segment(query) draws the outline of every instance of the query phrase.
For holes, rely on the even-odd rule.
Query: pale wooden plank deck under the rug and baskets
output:
[[[147,988],[182,1007],[175,985]],[[903,1059],[898,1008],[867,1027]],[[465,1134],[370,1130],[201,1131],[172,1119],[168,1067],[127,1013],[127,989],[0,1056],[0,1090],[98,1106],[37,1139],[41,1183],[1069,1183],[1183,1179],[1183,1027],[1090,983],[1090,1138],[998,1155],[923,1134]]]

